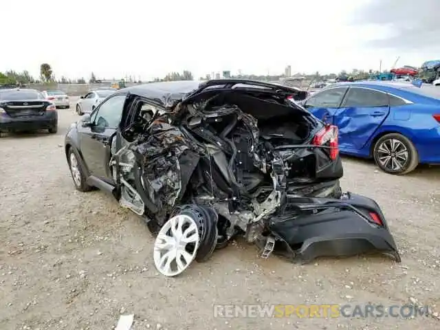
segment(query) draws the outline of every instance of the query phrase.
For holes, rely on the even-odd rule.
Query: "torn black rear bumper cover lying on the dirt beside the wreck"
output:
[[[377,225],[370,212],[377,214],[383,225]],[[318,256],[352,256],[372,251],[401,261],[380,207],[361,195],[292,199],[284,214],[270,219],[269,228],[278,241],[288,245],[294,259],[304,263]]]

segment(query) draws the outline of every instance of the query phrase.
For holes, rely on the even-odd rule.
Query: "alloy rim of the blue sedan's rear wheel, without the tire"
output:
[[[408,159],[408,149],[397,139],[385,140],[377,148],[377,161],[390,170],[403,170]]]

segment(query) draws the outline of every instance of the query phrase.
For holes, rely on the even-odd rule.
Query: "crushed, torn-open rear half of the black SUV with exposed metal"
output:
[[[333,236],[341,239],[331,228],[339,225],[334,221],[350,221],[353,212],[368,218],[365,225],[377,226],[371,224],[373,212],[380,217],[379,229],[388,232],[374,201],[342,194],[340,159],[329,139],[316,140],[329,127],[292,107],[285,96],[210,91],[161,113],[140,111],[138,99],[129,107],[112,146],[111,168],[120,203],[145,217],[157,234],[155,262],[162,274],[179,274],[193,259],[206,261],[236,234],[256,243],[264,258],[279,252],[308,261],[331,250]],[[316,220],[303,227],[295,224],[311,217]],[[330,222],[328,217],[333,217]],[[327,230],[333,236],[312,242]],[[399,259],[391,234],[369,235],[349,232],[345,238],[357,240],[359,252],[371,244]],[[183,244],[179,240],[193,243],[181,252],[183,259],[176,252]],[[158,265],[166,263],[159,247],[176,254],[174,272],[169,258]]]

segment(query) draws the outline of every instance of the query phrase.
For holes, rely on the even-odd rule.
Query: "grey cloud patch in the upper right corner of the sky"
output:
[[[440,47],[439,12],[439,0],[371,0],[358,8],[350,23],[382,26],[382,33],[366,42],[371,47],[432,50]]]

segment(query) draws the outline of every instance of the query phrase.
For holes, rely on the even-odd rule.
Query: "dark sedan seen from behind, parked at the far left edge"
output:
[[[39,129],[56,133],[55,105],[35,89],[0,89],[0,134]]]

